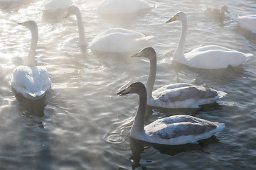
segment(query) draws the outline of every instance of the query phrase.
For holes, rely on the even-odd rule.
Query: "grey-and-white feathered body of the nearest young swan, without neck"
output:
[[[212,123],[189,115],[174,115],[156,120],[145,127],[149,142],[181,145],[206,139],[225,128],[222,123]]]

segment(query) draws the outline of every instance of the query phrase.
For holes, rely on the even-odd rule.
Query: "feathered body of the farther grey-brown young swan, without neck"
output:
[[[174,88],[175,87],[175,88]],[[225,96],[225,93],[220,96]],[[171,84],[153,91],[148,104],[164,108],[198,108],[220,98],[214,89],[192,84]]]

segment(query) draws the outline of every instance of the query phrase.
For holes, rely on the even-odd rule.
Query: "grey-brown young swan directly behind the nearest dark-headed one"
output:
[[[146,81],[147,104],[149,106],[198,108],[200,105],[213,103],[226,95],[223,91],[215,91],[186,83],[169,84],[153,91],[156,79],[156,52],[154,48],[146,47],[131,57],[146,57],[150,60],[149,77]]]

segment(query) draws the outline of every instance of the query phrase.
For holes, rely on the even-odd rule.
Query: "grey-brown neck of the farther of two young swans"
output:
[[[152,96],[155,79],[156,79],[156,56],[150,59],[149,76],[146,81],[147,98],[150,98]]]

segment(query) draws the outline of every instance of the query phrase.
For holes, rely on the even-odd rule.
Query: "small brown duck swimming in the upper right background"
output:
[[[206,6],[205,14],[213,19],[224,19],[225,12],[229,13],[227,6],[223,6],[220,10],[218,8]]]

